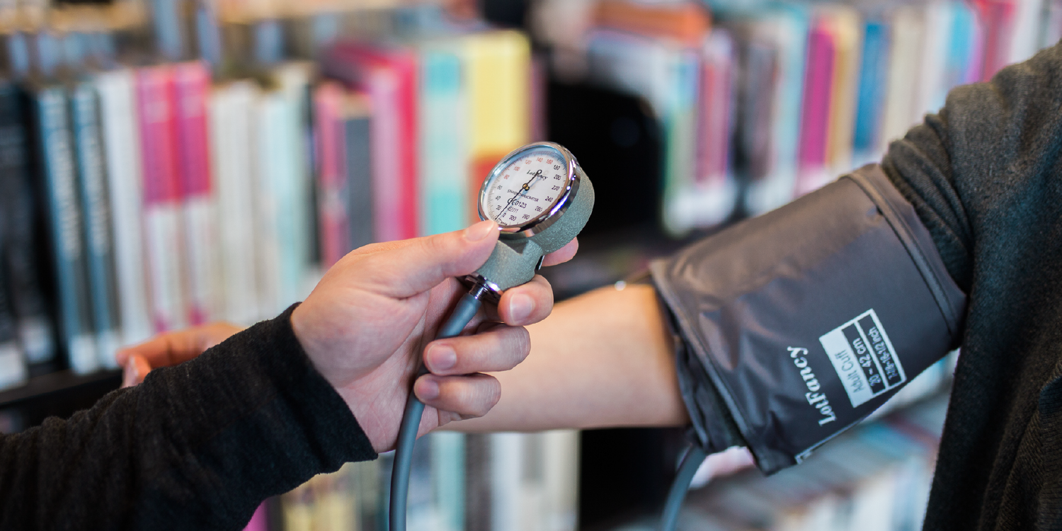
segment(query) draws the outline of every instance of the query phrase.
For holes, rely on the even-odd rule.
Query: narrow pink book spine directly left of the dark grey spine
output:
[[[344,90],[324,83],[313,92],[313,149],[318,164],[318,209],[321,230],[321,259],[330,268],[346,253],[346,172],[343,158],[343,126],[340,109]]]

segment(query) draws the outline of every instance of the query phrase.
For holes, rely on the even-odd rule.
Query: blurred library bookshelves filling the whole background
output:
[[[1060,0],[0,1],[0,430],[89,407],[114,354],[249,325],[374,241],[462,228],[509,151],[569,148],[595,212],[559,299],[811,191],[1062,36]],[[682,529],[921,527],[955,357],[804,464],[741,449]],[[653,529],[682,430],[417,444],[416,531]],[[251,531],[383,530],[390,458]]]

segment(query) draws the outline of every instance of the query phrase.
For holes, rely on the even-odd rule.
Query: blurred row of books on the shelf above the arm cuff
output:
[[[1062,36],[1050,0],[718,0],[710,29],[691,0],[560,3],[533,17],[554,66],[644,98],[661,122],[662,223],[673,235],[879,160],[950,88]],[[552,30],[558,16],[580,19],[563,24],[579,36]]]

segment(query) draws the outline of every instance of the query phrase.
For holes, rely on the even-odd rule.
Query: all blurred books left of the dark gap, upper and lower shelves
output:
[[[438,15],[332,35],[314,61],[273,53],[273,30],[296,24],[261,21],[254,48],[273,52],[239,70],[164,35],[176,61],[105,29],[0,39],[0,387],[49,360],[115,367],[157,332],[272,318],[358,246],[476,219],[486,171],[541,132],[542,73],[523,33]],[[577,470],[575,432],[429,434],[410,527],[575,529]],[[347,465],[250,529],[380,529],[389,477],[387,457]]]

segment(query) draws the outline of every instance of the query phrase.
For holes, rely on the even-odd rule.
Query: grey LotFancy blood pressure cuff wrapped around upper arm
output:
[[[877,166],[651,264],[705,450],[774,473],[958,345],[965,295]]]

